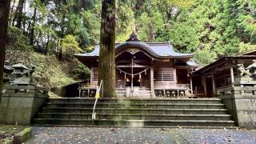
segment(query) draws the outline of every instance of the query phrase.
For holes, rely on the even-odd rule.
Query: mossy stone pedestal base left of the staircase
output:
[[[29,125],[48,91],[38,86],[6,86],[0,106],[0,123]]]

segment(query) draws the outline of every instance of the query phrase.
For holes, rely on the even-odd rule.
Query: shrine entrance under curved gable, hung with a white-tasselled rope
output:
[[[150,97],[151,58],[142,51],[125,51],[116,59],[116,94],[121,97]]]

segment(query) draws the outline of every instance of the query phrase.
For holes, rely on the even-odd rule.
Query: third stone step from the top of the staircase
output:
[[[92,113],[92,108],[44,107],[42,113]],[[228,114],[226,109],[96,108],[100,114]]]

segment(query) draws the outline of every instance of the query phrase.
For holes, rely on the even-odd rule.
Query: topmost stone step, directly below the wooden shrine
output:
[[[94,98],[50,98],[48,102],[91,102],[94,103]],[[100,98],[98,102],[111,102],[122,104],[136,103],[222,103],[219,98],[143,98],[143,99],[114,99]]]

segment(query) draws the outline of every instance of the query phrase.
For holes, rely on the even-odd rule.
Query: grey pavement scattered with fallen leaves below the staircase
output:
[[[256,130],[201,130],[158,128],[33,127],[34,143],[256,144]]]

